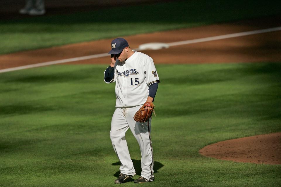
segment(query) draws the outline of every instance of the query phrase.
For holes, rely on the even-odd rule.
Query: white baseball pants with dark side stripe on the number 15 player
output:
[[[135,175],[133,163],[128,151],[125,133],[131,129],[140,146],[141,153],[141,176],[150,181],[154,180],[153,175],[153,149],[148,131],[148,122],[139,123],[133,119],[136,111],[142,105],[132,108],[116,108],[111,122],[110,138],[116,155],[118,156],[121,167],[120,172],[128,175]],[[149,119],[151,127],[151,118]]]

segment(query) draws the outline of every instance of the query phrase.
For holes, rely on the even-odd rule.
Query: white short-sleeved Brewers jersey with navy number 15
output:
[[[152,58],[135,51],[125,62],[116,59],[111,82],[116,82],[116,108],[122,108],[145,103],[148,87],[160,80]]]

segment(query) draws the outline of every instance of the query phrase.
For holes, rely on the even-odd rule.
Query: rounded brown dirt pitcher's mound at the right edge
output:
[[[281,164],[281,132],[217,142],[199,153],[235,162]]]

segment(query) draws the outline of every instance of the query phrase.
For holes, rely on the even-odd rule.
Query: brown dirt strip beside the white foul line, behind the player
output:
[[[281,25],[281,15],[190,29],[139,34],[126,37],[132,49],[148,42],[175,42],[260,30]],[[107,53],[112,39],[70,44],[48,49],[24,51],[0,56],[0,69],[53,60]],[[145,50],[156,64],[280,62],[281,31],[253,34],[195,44]],[[76,61],[71,64],[109,64],[108,57]]]

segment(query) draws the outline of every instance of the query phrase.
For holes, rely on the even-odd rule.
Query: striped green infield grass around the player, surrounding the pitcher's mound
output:
[[[104,65],[0,74],[0,186],[116,186],[114,84]],[[147,186],[280,186],[280,165],[206,158],[198,150],[281,131],[281,64],[157,65],[155,182]],[[140,175],[139,146],[128,147]],[[122,186],[134,186],[132,182]]]

